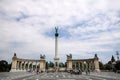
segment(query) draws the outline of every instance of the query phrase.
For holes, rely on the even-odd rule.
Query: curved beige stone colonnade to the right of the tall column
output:
[[[79,69],[81,71],[99,70],[99,58],[95,54],[94,58],[90,59],[72,59],[72,54],[67,55],[67,70]]]

